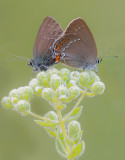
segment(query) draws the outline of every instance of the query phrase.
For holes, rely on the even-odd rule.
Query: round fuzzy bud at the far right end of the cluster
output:
[[[95,94],[102,94],[105,90],[105,85],[102,82],[95,82],[91,87],[92,92]]]

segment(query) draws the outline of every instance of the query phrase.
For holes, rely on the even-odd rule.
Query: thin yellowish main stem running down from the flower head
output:
[[[58,114],[60,125],[61,125],[61,128],[62,128],[62,133],[63,133],[63,137],[64,137],[64,141],[65,141],[65,145],[66,145],[66,150],[67,150],[67,155],[68,155],[70,153],[70,148],[69,148],[69,145],[67,144],[67,142],[65,140],[67,138],[66,129],[65,129],[65,125],[64,125],[64,122],[63,122],[63,119],[62,119],[60,109],[58,109],[58,108],[57,108],[57,114]]]

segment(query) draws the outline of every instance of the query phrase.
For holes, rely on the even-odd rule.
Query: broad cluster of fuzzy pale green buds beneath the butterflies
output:
[[[92,97],[102,94],[104,90],[104,83],[92,71],[80,73],[78,71],[71,72],[66,68],[61,70],[52,68],[47,72],[39,72],[28,86],[11,90],[9,96],[4,97],[1,102],[5,108],[17,110],[19,104],[23,105],[22,100],[29,101],[35,94],[51,104],[66,104],[76,99],[80,94]],[[27,105],[24,104],[24,106]],[[27,107],[25,109],[27,110]],[[24,112],[25,109],[23,109]]]

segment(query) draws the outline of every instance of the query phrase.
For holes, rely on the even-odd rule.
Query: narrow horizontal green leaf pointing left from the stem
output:
[[[34,121],[43,127],[53,127],[53,126],[59,125],[59,122],[46,122],[41,120],[34,120]]]

